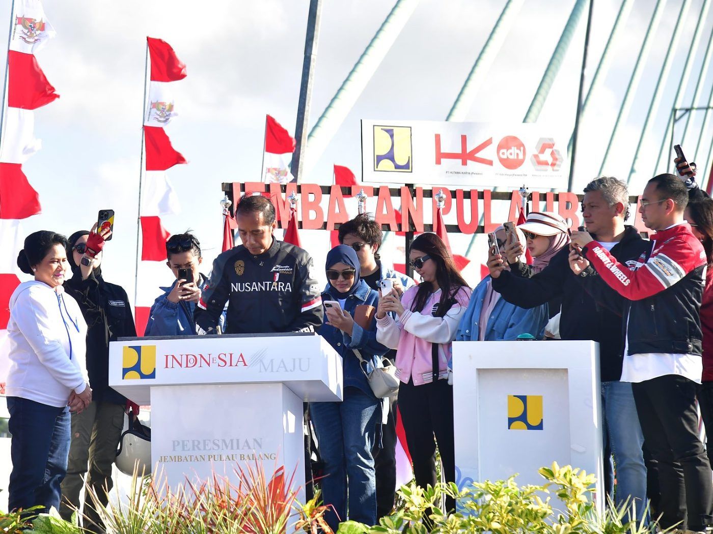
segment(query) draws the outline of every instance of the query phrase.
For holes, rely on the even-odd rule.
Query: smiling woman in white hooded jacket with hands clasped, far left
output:
[[[10,297],[10,370],[7,407],[12,434],[8,508],[59,508],[67,469],[70,410],[91,402],[86,379],[86,323],[76,300],[64,293],[66,239],[38,231],[17,257],[34,281]]]

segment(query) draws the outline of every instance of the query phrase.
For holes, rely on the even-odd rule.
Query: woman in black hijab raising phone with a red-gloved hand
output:
[[[93,394],[88,407],[72,415],[72,441],[60,508],[66,519],[80,508],[83,478],[106,506],[106,492],[113,486],[111,466],[124,424],[126,398],[109,387],[109,342],[117,337],[133,337],[136,329],[126,291],[104,281],[101,274],[102,249],[110,233],[108,230],[97,233],[95,225],[91,232],[77,231],[68,239],[67,259],[72,278],[65,288],[79,304],[88,326],[86,365]],[[87,493],[83,525],[89,532],[104,532]]]

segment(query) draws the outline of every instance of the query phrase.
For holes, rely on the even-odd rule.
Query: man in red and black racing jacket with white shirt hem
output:
[[[573,250],[570,268],[597,300],[620,303],[625,318],[621,379],[632,382],[645,444],[657,462],[660,526],[702,532],[713,524],[711,468],[698,438],[696,409],[707,260],[684,221],[688,191],[678,177],[650,179],[640,200],[642,220],[656,232],[650,251],[630,268],[587,232],[575,232],[572,242],[585,258]]]

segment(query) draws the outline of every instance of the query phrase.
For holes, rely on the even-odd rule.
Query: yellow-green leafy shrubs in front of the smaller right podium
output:
[[[347,521],[337,534],[649,534],[655,524],[628,520],[627,506],[610,507],[599,513],[592,500],[595,478],[571,466],[553,463],[541,468],[541,486],[518,486],[515,476],[504,481],[484,481],[458,490],[454,483],[420,488],[403,486],[399,496],[404,506],[369,526]],[[551,495],[564,504],[553,508]],[[458,512],[445,514],[436,506],[441,496],[456,498]],[[426,526],[426,523],[429,526]],[[666,532],[664,530],[663,532]]]

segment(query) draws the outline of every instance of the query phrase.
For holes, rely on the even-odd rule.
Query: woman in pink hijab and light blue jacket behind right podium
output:
[[[515,232],[518,241],[524,241],[522,231],[516,228]],[[498,226],[495,234],[498,248],[504,250],[508,239],[505,228]],[[547,318],[547,304],[529,309],[511,304],[493,290],[488,275],[473,290],[468,309],[458,326],[456,341],[513,341],[520,334],[542,339]]]

